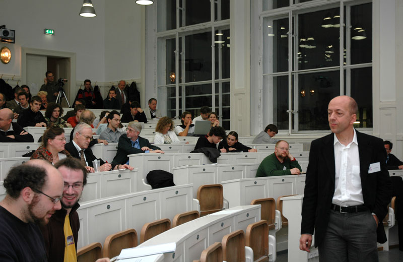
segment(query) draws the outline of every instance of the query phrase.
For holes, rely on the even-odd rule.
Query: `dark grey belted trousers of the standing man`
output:
[[[376,221],[371,213],[329,212],[326,235],[318,246],[319,261],[378,261]]]

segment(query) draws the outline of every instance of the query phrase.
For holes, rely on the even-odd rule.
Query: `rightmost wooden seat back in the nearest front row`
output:
[[[253,261],[268,261],[268,224],[266,220],[260,220],[247,226],[245,244],[253,250]]]

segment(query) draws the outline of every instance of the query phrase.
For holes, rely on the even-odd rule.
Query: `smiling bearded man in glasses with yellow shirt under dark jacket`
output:
[[[73,157],[57,162],[54,166],[63,176],[63,197],[61,209],[49,218],[47,225],[41,225],[48,261],[77,261],[77,243],[80,219],[77,209],[84,186],[87,184],[87,169]],[[69,230],[65,230],[68,227]],[[66,248],[65,244],[69,245]],[[99,258],[96,262],[107,262],[109,258]]]

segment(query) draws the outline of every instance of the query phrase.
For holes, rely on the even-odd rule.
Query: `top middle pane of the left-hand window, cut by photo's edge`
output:
[[[186,0],[186,26],[211,21],[210,0]]]

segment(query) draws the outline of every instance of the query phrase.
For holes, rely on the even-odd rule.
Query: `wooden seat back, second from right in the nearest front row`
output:
[[[223,237],[223,260],[226,262],[245,262],[245,233],[236,230]]]

